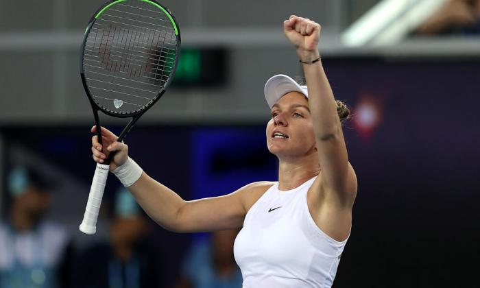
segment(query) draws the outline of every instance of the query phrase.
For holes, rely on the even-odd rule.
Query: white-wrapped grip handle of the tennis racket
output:
[[[97,163],[97,169],[93,174],[92,187],[86,202],[85,215],[80,224],[80,231],[85,234],[95,234],[97,231],[97,218],[101,205],[101,197],[104,196],[105,184],[107,182],[109,165]]]

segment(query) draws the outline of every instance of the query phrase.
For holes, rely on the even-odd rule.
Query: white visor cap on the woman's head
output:
[[[267,99],[268,106],[272,108],[278,99],[293,91],[300,92],[305,95],[305,97],[309,97],[307,86],[298,85],[298,83],[291,79],[291,77],[283,74],[271,77],[267,80],[264,89],[265,99]]]

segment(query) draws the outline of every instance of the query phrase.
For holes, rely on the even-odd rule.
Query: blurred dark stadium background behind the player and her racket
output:
[[[235,231],[163,230],[115,177],[97,234],[78,230],[95,170],[80,43],[103,2],[0,0],[0,287],[214,287],[198,284],[207,274],[240,287]],[[480,1],[162,3],[180,23],[178,72],[125,140],[150,176],[185,200],[276,180],[263,86],[302,75],[282,23],[313,19],[335,97],[352,110],[344,134],[359,180],[333,287],[480,287]],[[97,283],[84,283],[95,256]]]

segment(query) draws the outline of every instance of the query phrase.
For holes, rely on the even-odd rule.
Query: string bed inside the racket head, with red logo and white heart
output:
[[[171,77],[178,55],[169,17],[128,0],[99,14],[84,46],[84,73],[94,101],[118,114],[147,107]]]

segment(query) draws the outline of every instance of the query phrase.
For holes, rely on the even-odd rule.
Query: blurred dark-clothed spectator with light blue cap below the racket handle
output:
[[[154,288],[160,286],[160,256],[147,242],[150,222],[128,190],[115,200],[110,242],[88,249],[80,260],[78,287]]]

